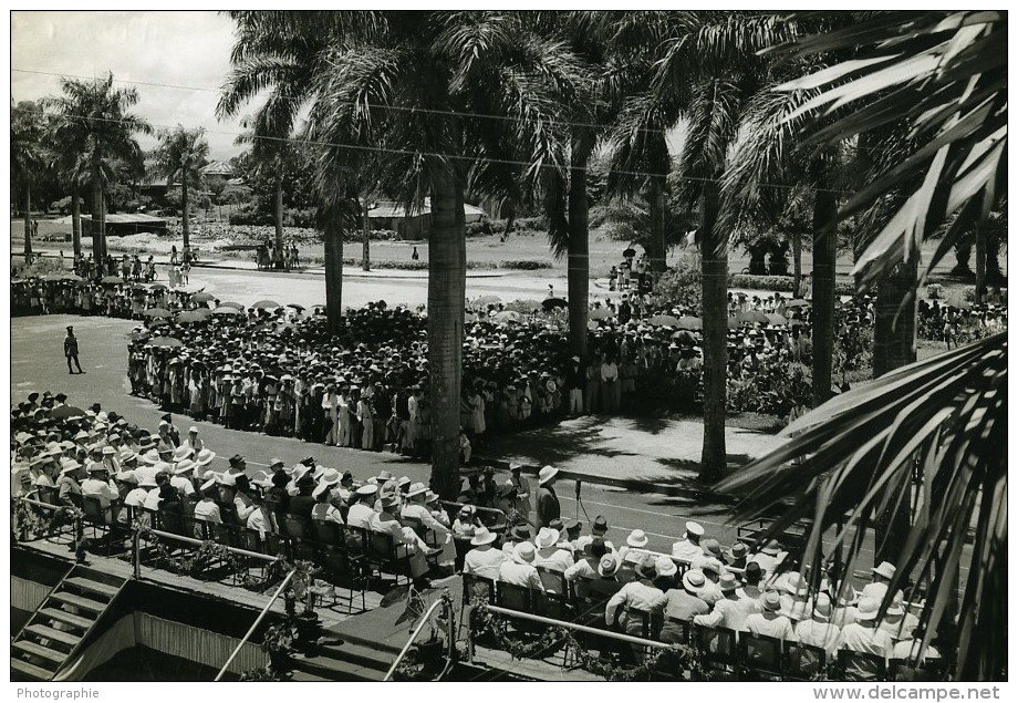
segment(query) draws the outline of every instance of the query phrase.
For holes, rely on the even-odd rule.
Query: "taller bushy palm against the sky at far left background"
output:
[[[92,254],[102,261],[106,258],[105,193],[116,178],[114,164],[141,164],[135,135],[150,134],[152,127],[128,112],[138,102],[137,90],[114,89],[113,73],[94,81],[61,79],[60,87],[63,95],[46,97],[42,105],[83,137],[77,148],[89,164],[92,186]]]

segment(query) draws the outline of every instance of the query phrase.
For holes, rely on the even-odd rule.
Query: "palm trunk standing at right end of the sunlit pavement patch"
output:
[[[699,478],[715,482],[728,466],[725,447],[728,350],[728,251],[717,231],[720,193],[704,185],[700,219],[700,270],[704,287],[704,448]]]

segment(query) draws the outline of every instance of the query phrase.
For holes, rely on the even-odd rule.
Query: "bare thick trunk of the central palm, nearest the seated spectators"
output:
[[[467,251],[463,186],[446,169],[432,183],[428,241],[428,369],[432,404],[432,488],[459,493],[459,395],[463,375]]]

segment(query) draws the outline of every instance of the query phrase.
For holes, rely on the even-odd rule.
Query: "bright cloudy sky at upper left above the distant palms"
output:
[[[11,99],[59,95],[61,75],[112,71],[118,87],[137,89],[135,114],[156,130],[204,126],[210,159],[226,161],[241,151],[239,120],[216,118],[232,44],[232,23],[217,12],[11,12]],[[149,149],[156,139],[139,143]]]

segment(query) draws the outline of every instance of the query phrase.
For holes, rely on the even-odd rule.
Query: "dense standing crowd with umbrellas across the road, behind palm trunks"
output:
[[[89,283],[51,275],[13,280],[11,298],[14,314],[145,320],[147,330],[129,351],[132,385],[167,407],[235,427],[372,449],[395,444],[397,451],[426,455],[427,340],[419,309],[378,302],[350,310],[344,329],[330,335],[321,316],[298,314],[295,308],[208,314],[219,302],[211,296],[196,300],[162,283]],[[153,309],[202,319],[150,319],[146,311]],[[699,412],[702,320],[692,310],[655,302],[638,288],[620,299],[594,299],[583,359],[571,354],[557,312],[521,313],[501,302],[468,306],[465,448],[487,432],[569,415]],[[808,301],[730,292],[728,313],[729,412],[782,418],[804,412],[811,402]],[[849,387],[849,374],[869,365],[874,320],[869,297],[839,302],[835,392]],[[921,339],[964,343],[1006,324],[1000,304],[920,303]],[[149,347],[157,335],[183,345]]]

